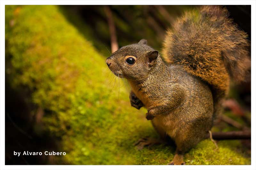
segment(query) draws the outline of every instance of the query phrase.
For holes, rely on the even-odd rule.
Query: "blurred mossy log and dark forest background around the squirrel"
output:
[[[158,138],[145,109],[129,103],[125,80],[105,59],[147,39],[161,52],[165,31],[187,5],[5,5],[6,165],[166,165],[175,147],[137,150],[142,137]],[[226,5],[251,37],[251,6]],[[251,126],[251,76],[231,83],[224,114],[212,131]],[[185,155],[187,165],[251,164],[251,140],[210,139]],[[13,151],[66,152],[14,156]]]

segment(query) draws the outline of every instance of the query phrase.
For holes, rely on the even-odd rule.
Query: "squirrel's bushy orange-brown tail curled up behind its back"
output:
[[[185,70],[206,81],[215,103],[229,89],[229,79],[243,81],[251,66],[247,34],[220,6],[188,11],[167,31],[163,57],[182,64]]]

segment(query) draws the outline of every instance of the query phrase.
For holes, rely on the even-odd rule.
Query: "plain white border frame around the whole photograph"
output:
[[[5,124],[4,124],[4,113],[5,113],[5,7],[4,5],[252,5],[251,6],[251,46],[252,46],[252,110],[251,110],[251,121],[252,121],[252,148],[251,148],[251,165],[188,165],[188,166],[162,166],[162,165],[131,165],[131,166],[122,166],[122,165],[4,165],[5,164]],[[256,170],[256,134],[255,134],[255,123],[256,123],[256,51],[255,51],[255,30],[256,30],[256,1],[255,0],[183,0],[183,1],[166,1],[166,0],[0,0],[0,127],[1,127],[1,137],[0,137],[0,169],[207,169],[207,170],[216,170],[216,169],[232,169],[232,170],[241,170],[241,169],[250,169]],[[253,104],[254,103],[254,104]]]

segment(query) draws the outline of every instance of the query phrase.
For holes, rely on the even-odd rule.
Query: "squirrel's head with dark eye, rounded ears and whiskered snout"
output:
[[[109,69],[119,77],[133,80],[147,78],[150,70],[156,66],[158,51],[147,45],[147,40],[141,39],[137,44],[131,44],[118,49],[106,63]]]

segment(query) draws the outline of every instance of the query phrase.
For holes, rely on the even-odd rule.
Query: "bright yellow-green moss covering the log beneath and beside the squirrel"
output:
[[[171,161],[173,146],[140,151],[133,146],[141,137],[157,137],[145,119],[146,110],[130,106],[129,88],[120,80],[119,89],[119,79],[109,73],[104,57],[58,6],[7,5],[5,11],[6,23],[14,23],[6,27],[12,65],[6,76],[13,88],[29,88],[32,102],[44,109],[44,129],[60,138],[58,149],[67,152],[61,159],[75,165],[166,165]],[[250,164],[250,158],[236,149],[240,143],[222,141],[219,147],[215,152],[212,142],[204,140],[185,155],[185,162]]]

